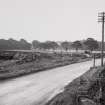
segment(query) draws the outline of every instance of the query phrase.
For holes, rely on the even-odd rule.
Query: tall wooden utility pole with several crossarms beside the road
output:
[[[102,42],[101,42],[101,66],[104,65],[103,63],[103,56],[104,56],[104,22],[105,22],[105,12],[100,12],[98,14],[98,22],[102,23]]]

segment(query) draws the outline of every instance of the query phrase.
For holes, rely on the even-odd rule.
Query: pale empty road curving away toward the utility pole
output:
[[[0,105],[44,105],[92,65],[87,61],[1,82]]]

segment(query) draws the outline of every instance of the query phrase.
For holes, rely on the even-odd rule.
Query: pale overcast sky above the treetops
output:
[[[0,0],[0,39],[101,40],[105,0]]]

